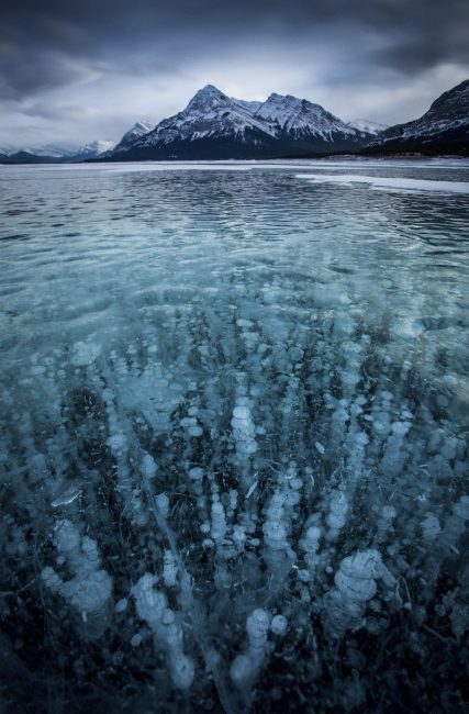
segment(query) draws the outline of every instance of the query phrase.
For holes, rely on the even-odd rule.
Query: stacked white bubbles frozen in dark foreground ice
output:
[[[175,309],[4,386],[2,647],[35,711],[47,688],[71,709],[462,711],[465,378],[431,339],[422,361],[321,310],[311,331]]]

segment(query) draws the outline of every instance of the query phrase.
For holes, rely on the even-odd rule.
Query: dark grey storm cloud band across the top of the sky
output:
[[[397,71],[468,59],[461,29],[468,26],[469,3],[459,0],[5,0],[2,5],[1,74],[7,91],[18,96],[72,82],[116,59],[124,70],[129,62],[133,71],[149,71],[132,55],[139,48],[158,57],[158,45],[166,48],[172,33],[186,35],[187,52],[219,40],[242,47],[244,37],[256,34],[260,42],[272,34],[294,43],[297,35],[310,34],[314,41],[327,32],[334,42],[339,23],[348,26],[349,36],[343,34],[342,42],[350,48],[357,29],[381,40],[369,60]],[[172,57],[172,65],[177,60]],[[164,63],[155,62],[164,71]]]

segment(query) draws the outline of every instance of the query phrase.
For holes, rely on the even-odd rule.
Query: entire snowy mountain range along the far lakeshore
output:
[[[344,122],[320,104],[290,94],[265,102],[227,97],[208,85],[178,114],[154,126],[139,121],[115,144],[78,152],[54,146],[0,148],[0,163],[190,160],[421,153],[469,154],[469,80],[442,94],[420,119],[387,127]]]

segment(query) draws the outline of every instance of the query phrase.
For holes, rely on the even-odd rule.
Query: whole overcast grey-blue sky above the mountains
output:
[[[468,26],[467,0],[1,0],[0,146],[118,140],[206,83],[409,121],[469,77]]]

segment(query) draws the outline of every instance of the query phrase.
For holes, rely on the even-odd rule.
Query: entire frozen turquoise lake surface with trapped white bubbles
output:
[[[469,161],[0,167],[0,704],[467,711]]]

